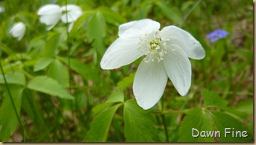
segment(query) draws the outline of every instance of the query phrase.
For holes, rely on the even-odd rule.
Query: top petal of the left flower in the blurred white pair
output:
[[[54,14],[61,14],[60,6],[57,4],[46,4],[43,7],[40,7],[37,14],[40,16],[43,15],[54,15]]]

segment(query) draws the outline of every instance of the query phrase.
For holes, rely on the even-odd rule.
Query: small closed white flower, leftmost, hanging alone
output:
[[[21,40],[25,35],[25,30],[25,25],[22,22],[18,22],[10,29],[10,34],[17,40]]]

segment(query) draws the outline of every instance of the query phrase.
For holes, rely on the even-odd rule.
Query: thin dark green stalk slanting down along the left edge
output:
[[[20,118],[19,118],[19,114],[18,114],[17,109],[16,109],[16,106],[15,106],[15,104],[14,104],[13,97],[12,97],[12,95],[11,95],[11,93],[10,93],[10,88],[9,88],[9,86],[8,86],[8,84],[7,84],[7,80],[6,80],[6,77],[5,77],[5,74],[4,74],[4,70],[3,70],[2,66],[1,66],[1,61],[0,61],[0,68],[1,68],[1,74],[2,74],[3,77],[4,77],[4,84],[5,84],[6,88],[7,88],[7,92],[8,92],[8,94],[9,94],[9,96],[10,96],[10,101],[11,101],[11,103],[12,103],[12,105],[13,105],[13,109],[14,109],[15,115],[16,115],[16,117],[17,117],[17,119],[18,119],[18,122],[19,122],[19,127],[20,127],[20,129],[22,130],[23,141],[25,141],[25,134],[24,134],[25,132],[24,132],[24,129],[23,129],[23,127],[22,127],[22,121],[21,121]]]

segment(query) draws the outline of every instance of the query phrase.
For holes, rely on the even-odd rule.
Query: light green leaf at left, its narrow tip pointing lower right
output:
[[[51,79],[51,77],[34,77],[34,79],[28,83],[28,88],[63,99],[74,99],[74,97],[57,82],[57,80]]]

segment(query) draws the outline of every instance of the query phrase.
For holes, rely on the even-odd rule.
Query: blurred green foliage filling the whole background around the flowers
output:
[[[83,10],[70,33],[63,23],[47,31],[39,22],[37,10],[51,2],[0,1],[0,141],[253,141],[252,1],[56,0]],[[205,59],[190,59],[189,93],[179,96],[168,81],[148,111],[131,87],[140,60],[111,71],[99,66],[118,26],[144,18],[187,30],[206,51]],[[15,22],[26,26],[21,41],[9,33]],[[217,28],[229,35],[210,43],[206,35]],[[191,137],[192,127],[233,126],[249,137]]]

